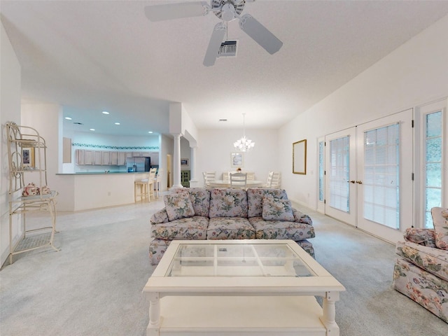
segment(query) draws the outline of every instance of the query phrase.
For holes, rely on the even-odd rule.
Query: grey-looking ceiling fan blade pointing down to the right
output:
[[[274,54],[279,51],[283,42],[276,38],[274,34],[272,34],[265,26],[263,26],[260,22],[255,20],[251,15],[243,15],[241,16],[241,20],[239,20],[239,27],[251,36],[253,40],[261,45],[269,54]]]

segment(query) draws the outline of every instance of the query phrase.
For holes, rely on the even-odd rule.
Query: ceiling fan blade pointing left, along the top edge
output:
[[[168,3],[167,5],[146,6],[145,15],[150,21],[192,18],[209,13],[204,1]]]

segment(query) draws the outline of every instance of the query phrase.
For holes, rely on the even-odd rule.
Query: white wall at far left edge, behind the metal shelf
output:
[[[1,264],[9,254],[9,169],[5,124],[12,121],[20,125],[20,63],[3,25],[0,25],[0,255]],[[13,237],[20,235],[20,217],[13,218]]]

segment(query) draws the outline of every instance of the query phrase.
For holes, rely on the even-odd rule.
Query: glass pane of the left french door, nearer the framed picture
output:
[[[330,207],[350,211],[350,137],[330,141]]]

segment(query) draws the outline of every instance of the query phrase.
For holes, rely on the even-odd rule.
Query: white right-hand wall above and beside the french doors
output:
[[[316,209],[317,137],[447,95],[448,15],[281,127],[279,158],[288,196]],[[291,144],[301,139],[308,141],[307,175],[291,173]]]

